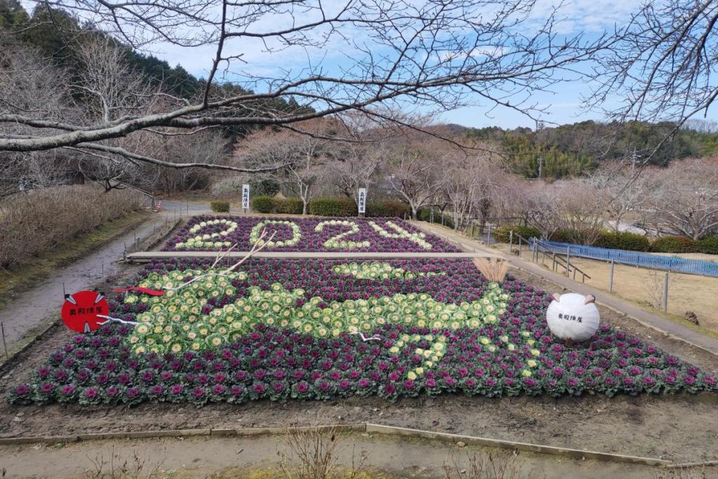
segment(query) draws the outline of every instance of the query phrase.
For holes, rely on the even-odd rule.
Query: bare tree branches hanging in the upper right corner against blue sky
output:
[[[607,111],[618,121],[668,121],[674,127],[640,165],[691,117],[707,113],[718,96],[718,4],[711,0],[647,0],[626,26],[617,30],[610,48],[597,55],[598,87],[589,107],[615,104]],[[638,176],[641,168],[634,172]]]

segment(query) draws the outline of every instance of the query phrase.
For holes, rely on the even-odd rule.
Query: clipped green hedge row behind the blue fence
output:
[[[493,236],[496,241],[508,243],[510,231],[513,230],[514,242],[518,242],[516,235],[523,238],[541,238],[541,231],[531,226],[500,226],[495,228]],[[625,251],[652,251],[654,253],[704,253],[718,254],[718,236],[708,236],[701,240],[694,240],[686,236],[661,236],[656,241],[651,241],[647,236],[638,233],[628,233],[621,231],[601,231],[600,233],[587,233],[586,231],[576,231],[570,229],[561,229],[551,234],[551,241],[559,241],[559,243],[577,243],[581,244],[584,238],[595,237],[596,240],[591,246],[599,248],[623,249]]]

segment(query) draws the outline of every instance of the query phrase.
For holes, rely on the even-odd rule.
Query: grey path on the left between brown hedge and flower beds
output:
[[[0,310],[4,323],[7,348],[14,350],[26,338],[57,320],[64,301],[63,290],[71,293],[91,289],[106,278],[115,276],[125,266],[118,264],[125,246],[132,246],[135,238],[147,238],[155,228],[164,225],[166,215],[156,215],[142,223],[135,231],[116,238],[73,264],[57,269],[52,276],[32,289],[19,294]]]

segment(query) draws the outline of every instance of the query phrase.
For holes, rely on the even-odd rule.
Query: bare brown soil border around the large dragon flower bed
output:
[[[126,266],[108,287],[123,284],[136,269],[136,266]],[[524,271],[512,271],[512,274],[546,290],[556,289],[551,282]],[[612,310],[601,307],[600,312],[602,320],[610,325],[656,343],[684,361],[709,371],[718,370],[718,358],[704,350],[664,337]],[[558,399],[444,395],[402,399],[396,403],[373,397],[209,404],[200,409],[178,404],[141,404],[132,408],[7,404],[4,394],[9,386],[27,381],[32,370],[45,361],[48,352],[60,348],[71,337],[72,333],[64,327],[52,327],[0,373],[0,437],[376,422],[678,462],[718,459],[718,394]],[[3,455],[0,450],[0,457]]]

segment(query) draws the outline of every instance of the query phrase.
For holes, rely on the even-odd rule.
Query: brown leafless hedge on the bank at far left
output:
[[[136,192],[104,192],[90,185],[52,187],[16,195],[0,205],[0,267],[17,266],[59,243],[138,210],[141,204],[142,198]]]

